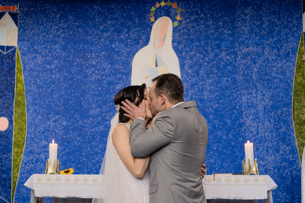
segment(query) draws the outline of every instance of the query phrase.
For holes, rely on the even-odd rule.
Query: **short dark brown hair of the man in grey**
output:
[[[155,81],[154,92],[156,94],[156,98],[163,94],[172,104],[184,101],[183,84],[178,75],[172,73],[162,74],[152,79],[152,82]]]

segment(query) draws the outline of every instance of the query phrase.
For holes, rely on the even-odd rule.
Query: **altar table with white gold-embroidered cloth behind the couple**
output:
[[[24,186],[32,189],[31,203],[36,203],[35,197],[84,198],[83,202],[90,202],[98,184],[103,187],[103,176],[33,174]],[[206,199],[268,199],[272,202],[271,190],[277,187],[268,175],[207,175]]]

